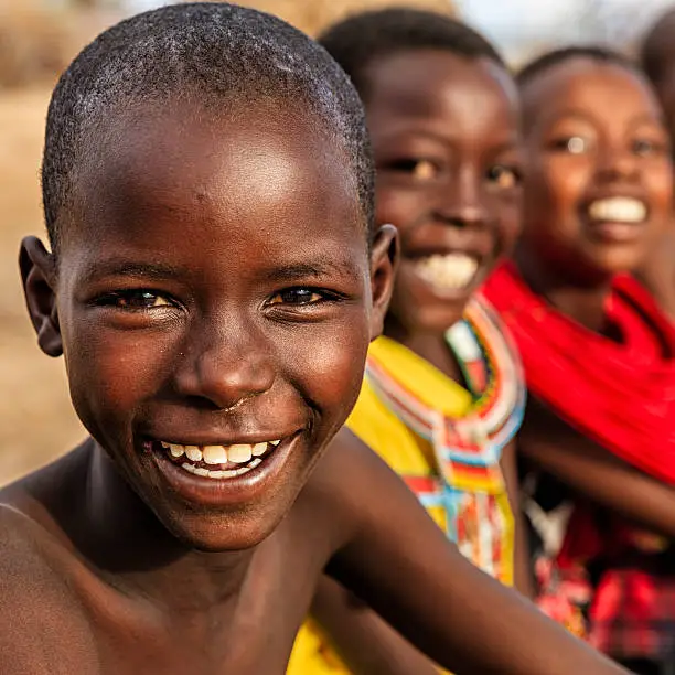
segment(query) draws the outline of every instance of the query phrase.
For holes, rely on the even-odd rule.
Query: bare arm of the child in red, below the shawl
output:
[[[518,435],[518,452],[600,506],[675,538],[675,486],[610,454],[534,397]]]

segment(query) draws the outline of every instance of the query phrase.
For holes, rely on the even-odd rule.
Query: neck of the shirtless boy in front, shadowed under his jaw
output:
[[[142,596],[172,611],[235,604],[257,549],[190,548],[160,523],[95,441],[83,451],[86,492],[76,500],[79,505],[67,519],[72,532],[66,534],[100,576],[128,596]]]

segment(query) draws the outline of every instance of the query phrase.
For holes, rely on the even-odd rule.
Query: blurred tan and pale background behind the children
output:
[[[42,234],[39,168],[52,86],[77,51],[153,0],[0,0],[0,484],[84,437],[68,401],[62,360],[42,355],[23,308],[17,251]],[[570,42],[632,52],[672,0],[244,0],[310,34],[364,8],[406,4],[451,12],[500,45],[517,67]]]

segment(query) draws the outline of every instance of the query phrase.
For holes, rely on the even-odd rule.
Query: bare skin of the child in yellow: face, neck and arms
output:
[[[519,231],[518,105],[499,65],[444,51],[403,51],[367,68],[366,116],[377,164],[376,219],[393,223],[401,260],[385,334],[465,384],[444,332],[510,251]],[[463,251],[479,259],[471,282],[440,292],[416,272],[430,254]],[[515,443],[502,458],[516,517],[516,587],[531,593],[519,527]],[[435,673],[419,652],[349,593],[325,580],[314,615],[353,673]]]

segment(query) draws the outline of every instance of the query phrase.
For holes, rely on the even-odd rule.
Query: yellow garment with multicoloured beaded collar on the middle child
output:
[[[447,331],[469,389],[403,344],[379,338],[347,426],[404,478],[468,558],[512,585],[514,518],[500,454],[522,421],[525,387],[517,352],[501,329],[479,294]],[[349,671],[310,623],[288,672]]]

